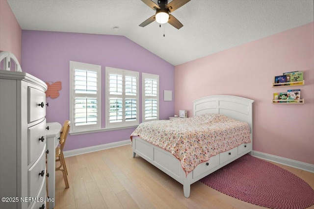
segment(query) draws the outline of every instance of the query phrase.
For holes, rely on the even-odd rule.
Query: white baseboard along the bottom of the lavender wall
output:
[[[113,147],[124,146],[124,145],[128,145],[128,144],[131,144],[130,139],[112,142],[112,143],[107,143],[107,144],[101,144],[101,145],[97,145],[97,146],[84,147],[81,149],[64,151],[63,155],[66,158],[66,157],[71,157],[71,156],[75,156],[75,155],[81,155],[81,154],[85,154],[85,153],[96,152],[96,151],[100,151],[103,149],[110,149]]]

